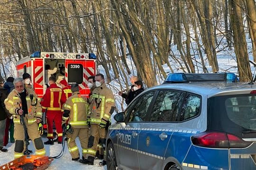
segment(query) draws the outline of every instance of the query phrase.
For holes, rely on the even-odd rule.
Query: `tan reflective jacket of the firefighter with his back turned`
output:
[[[67,120],[74,128],[88,128],[87,114],[89,104],[83,100],[79,92],[74,92],[63,105],[62,124]]]

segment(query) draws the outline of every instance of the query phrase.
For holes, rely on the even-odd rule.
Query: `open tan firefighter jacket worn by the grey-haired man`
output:
[[[37,97],[37,94],[34,92],[34,90],[27,89],[26,87],[24,88],[24,90],[24,93],[26,93],[27,101],[27,113],[24,112],[24,114],[28,115],[27,123],[32,124],[36,122],[37,119],[42,120],[42,108],[40,105],[40,98]],[[33,97],[33,99],[31,100],[30,97]],[[25,106],[22,106],[21,101],[21,96],[15,89],[9,93],[8,97],[4,101],[6,109],[9,110],[9,113],[13,116],[13,122],[15,124],[21,124],[18,110],[25,108]]]

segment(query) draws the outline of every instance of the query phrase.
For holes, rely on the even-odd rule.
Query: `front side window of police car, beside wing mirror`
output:
[[[133,104],[127,110],[129,122],[140,122],[145,121],[145,117],[149,108],[149,105],[153,99],[155,92],[149,92],[133,101]]]

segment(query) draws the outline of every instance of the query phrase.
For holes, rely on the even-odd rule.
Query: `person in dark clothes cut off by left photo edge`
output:
[[[4,80],[0,76],[0,151],[7,152],[8,150],[3,148],[5,124],[8,110],[5,108],[4,100],[8,96],[8,90],[3,88]]]

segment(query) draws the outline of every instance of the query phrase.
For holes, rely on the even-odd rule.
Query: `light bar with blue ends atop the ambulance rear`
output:
[[[93,53],[62,53],[62,52],[34,52],[30,58],[49,58],[49,59],[97,59]]]

